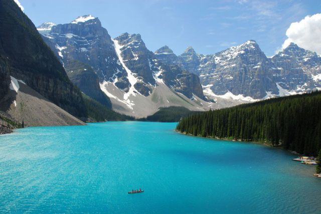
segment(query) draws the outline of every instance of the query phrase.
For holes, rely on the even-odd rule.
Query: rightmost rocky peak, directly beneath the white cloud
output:
[[[287,90],[310,91],[320,87],[321,57],[315,52],[290,43],[271,60],[275,67],[275,81]]]

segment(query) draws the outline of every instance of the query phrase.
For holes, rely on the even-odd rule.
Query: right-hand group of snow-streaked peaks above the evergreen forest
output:
[[[200,76],[208,97],[255,101],[320,87],[320,57],[294,43],[271,58],[254,40],[248,40],[208,55],[189,47],[177,60]]]

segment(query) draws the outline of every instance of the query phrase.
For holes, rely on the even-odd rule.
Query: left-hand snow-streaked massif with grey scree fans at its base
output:
[[[162,106],[183,105],[192,110],[203,110],[213,104],[204,100],[197,75],[158,60],[139,34],[123,33],[111,38],[100,20],[92,15],[79,16],[70,23],[53,25],[50,31],[40,32],[61,59],[70,78],[78,79],[77,86],[83,88],[83,92],[86,89],[87,95],[89,92],[97,94],[94,91],[97,89],[90,91],[88,85],[83,85],[86,81],[79,76],[79,65],[92,67],[99,77],[101,90],[110,97],[113,109],[117,111],[146,116]],[[77,67],[73,67],[75,64]],[[77,76],[72,73],[75,70]],[[86,66],[83,70],[88,74]],[[88,84],[95,85],[90,76],[92,81],[88,78]],[[79,82],[82,85],[78,85]],[[102,102],[98,96],[93,98]]]

